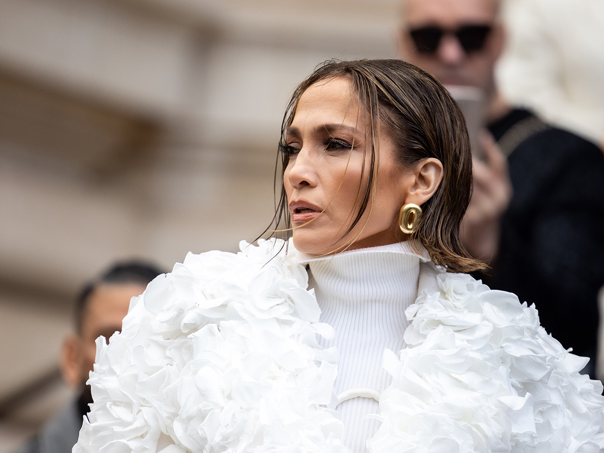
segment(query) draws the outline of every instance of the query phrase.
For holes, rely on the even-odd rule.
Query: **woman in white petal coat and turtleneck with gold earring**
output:
[[[481,267],[458,239],[471,155],[433,77],[326,63],[280,151],[293,244],[189,254],[153,280],[97,343],[75,452],[604,448],[585,361],[534,307],[455,273]]]

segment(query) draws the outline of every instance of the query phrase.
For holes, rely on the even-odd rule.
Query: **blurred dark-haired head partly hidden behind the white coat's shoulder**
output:
[[[120,262],[85,285],[76,299],[75,332],[63,341],[61,368],[69,385],[82,391],[82,409],[92,402],[88,375],[94,366],[95,340],[121,331],[130,299],[138,296],[162,271],[139,261]]]

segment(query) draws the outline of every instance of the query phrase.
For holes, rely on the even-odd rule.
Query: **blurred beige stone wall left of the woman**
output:
[[[80,285],[259,235],[289,94],[323,60],[394,57],[397,3],[0,2],[0,453],[69,399]]]

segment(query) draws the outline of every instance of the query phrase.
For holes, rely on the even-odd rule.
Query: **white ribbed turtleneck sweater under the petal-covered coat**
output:
[[[397,353],[405,346],[405,309],[417,297],[420,261],[428,259],[407,242],[303,257],[310,267],[309,286],[315,288],[320,320],[335,329],[333,340],[321,338],[320,343],[339,351],[336,391],[352,398],[337,410],[344,422],[344,444],[353,452],[365,452],[379,427],[370,417],[379,413],[379,405],[367,396],[379,398],[390,384],[382,356],[385,349]],[[362,390],[353,390],[357,388]]]

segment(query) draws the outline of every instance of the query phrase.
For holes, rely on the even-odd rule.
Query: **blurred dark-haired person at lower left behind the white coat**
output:
[[[82,417],[92,402],[86,385],[94,365],[95,340],[106,340],[121,331],[130,299],[143,293],[147,284],[162,271],[138,261],[116,264],[94,282],[86,285],[76,299],[76,331],[63,341],[61,370],[65,381],[79,396],[51,420],[19,453],[68,453],[77,442]]]

